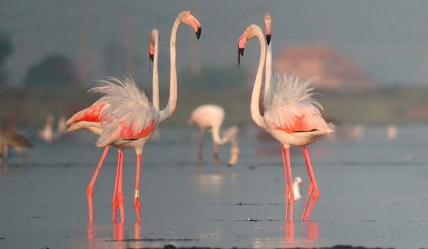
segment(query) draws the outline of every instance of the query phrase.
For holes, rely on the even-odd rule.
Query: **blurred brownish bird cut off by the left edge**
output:
[[[12,146],[16,151],[23,155],[24,160],[26,160],[23,147],[32,148],[33,144],[31,144],[26,137],[19,134],[12,127],[0,125],[0,152],[3,153],[3,159],[5,162],[8,160],[8,146]]]

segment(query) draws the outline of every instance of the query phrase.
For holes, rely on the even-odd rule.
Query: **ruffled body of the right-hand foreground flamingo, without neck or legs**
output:
[[[275,74],[270,93],[265,96],[265,129],[283,145],[304,146],[333,132],[321,117],[321,105],[311,98],[310,84],[299,77]]]

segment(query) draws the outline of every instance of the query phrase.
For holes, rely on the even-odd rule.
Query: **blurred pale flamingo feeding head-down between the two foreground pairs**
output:
[[[218,105],[202,105],[193,110],[188,121],[189,125],[199,126],[199,149],[198,149],[198,163],[202,160],[202,143],[205,129],[211,129],[212,133],[212,148],[216,161],[219,163],[219,153],[217,145],[232,141],[231,158],[228,165],[232,166],[238,161],[239,147],[237,140],[238,127],[232,126],[227,129],[223,138],[220,137],[220,130],[222,129],[223,119],[225,118],[225,110]]]

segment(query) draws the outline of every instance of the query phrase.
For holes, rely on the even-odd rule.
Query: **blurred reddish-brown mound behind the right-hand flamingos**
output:
[[[325,45],[284,48],[273,65],[278,73],[290,72],[304,80],[319,76],[313,84],[318,89],[352,90],[380,86],[356,63]]]

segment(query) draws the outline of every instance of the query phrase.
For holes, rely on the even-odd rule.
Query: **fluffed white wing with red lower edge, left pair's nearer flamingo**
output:
[[[110,77],[92,89],[106,94],[100,100],[110,104],[110,118],[97,146],[103,147],[117,140],[134,140],[149,136],[157,127],[159,113],[132,78]]]

